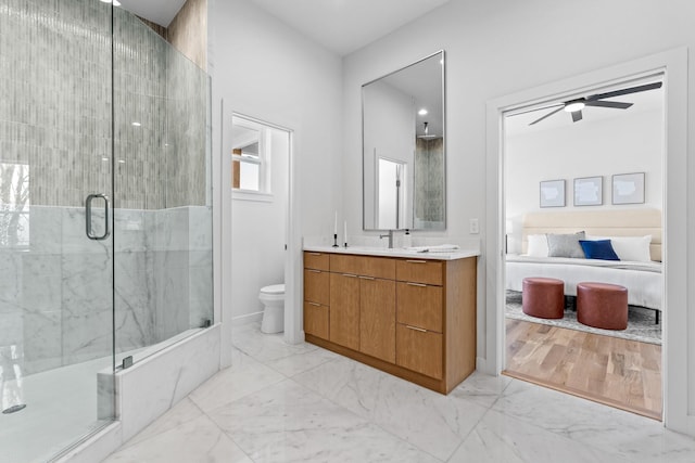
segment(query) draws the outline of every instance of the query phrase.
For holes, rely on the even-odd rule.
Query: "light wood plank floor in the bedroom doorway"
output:
[[[504,374],[661,420],[661,346],[506,320]]]

